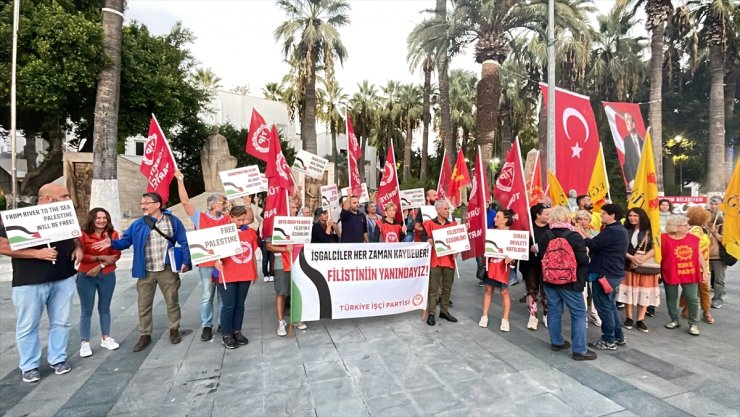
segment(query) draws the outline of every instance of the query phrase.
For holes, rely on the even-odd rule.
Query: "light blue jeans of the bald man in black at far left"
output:
[[[74,292],[74,275],[59,281],[13,287],[15,340],[22,372],[36,369],[41,363],[39,323],[44,306],[49,315],[47,360],[51,365],[67,360],[69,310]]]

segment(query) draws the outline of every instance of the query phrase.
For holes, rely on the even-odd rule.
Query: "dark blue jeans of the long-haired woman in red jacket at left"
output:
[[[90,340],[90,319],[98,294],[98,317],[100,334],[110,336],[110,302],[116,288],[116,273],[98,274],[88,277],[84,272],[77,274],[77,294],[80,296],[80,339]]]

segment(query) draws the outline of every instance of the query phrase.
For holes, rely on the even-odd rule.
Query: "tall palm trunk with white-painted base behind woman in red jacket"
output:
[[[103,49],[109,65],[100,72],[93,126],[93,180],[90,208],[107,207],[120,230],[118,196],[118,105],[121,96],[121,28],[124,0],[105,0]]]

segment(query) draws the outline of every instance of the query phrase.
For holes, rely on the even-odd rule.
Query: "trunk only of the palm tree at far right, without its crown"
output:
[[[725,185],[725,62],[722,45],[709,45],[709,169],[707,191],[722,192]],[[712,163],[714,162],[714,163]]]

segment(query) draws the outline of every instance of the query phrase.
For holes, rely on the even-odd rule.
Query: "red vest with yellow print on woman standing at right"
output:
[[[687,233],[681,239],[674,239],[663,233],[660,235],[660,248],[663,254],[660,273],[666,284],[693,284],[702,281],[698,237]]]

